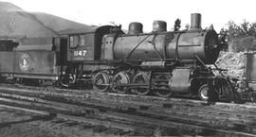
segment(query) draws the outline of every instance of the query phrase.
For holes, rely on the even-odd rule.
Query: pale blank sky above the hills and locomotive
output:
[[[128,29],[130,22],[140,22],[151,31],[154,20],[167,22],[167,29],[181,19],[190,24],[191,13],[202,14],[202,27],[211,24],[219,31],[229,20],[240,24],[256,22],[255,0],[5,0],[27,11],[46,12],[86,25],[115,22]]]

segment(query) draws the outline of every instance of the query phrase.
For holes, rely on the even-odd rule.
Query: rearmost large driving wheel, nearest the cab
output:
[[[109,89],[110,77],[104,72],[100,72],[93,77],[93,88],[99,92],[106,92]]]

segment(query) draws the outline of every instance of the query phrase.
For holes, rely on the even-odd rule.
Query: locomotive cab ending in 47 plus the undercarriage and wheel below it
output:
[[[92,72],[109,68],[101,60],[102,39],[111,34],[115,26],[92,26],[84,29],[67,29],[60,32],[60,81],[64,87],[74,85],[77,80],[91,81]],[[119,30],[120,33],[122,31]],[[63,42],[63,43],[62,43]]]

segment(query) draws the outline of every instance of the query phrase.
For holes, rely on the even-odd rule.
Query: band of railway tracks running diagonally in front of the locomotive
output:
[[[251,105],[217,103],[206,107],[194,100],[102,94],[104,98],[81,91],[35,89],[1,87],[0,104],[143,135],[159,130],[163,135],[170,131],[204,136],[256,134],[256,107]]]

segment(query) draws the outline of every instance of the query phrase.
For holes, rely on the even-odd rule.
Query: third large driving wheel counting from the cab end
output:
[[[150,93],[150,77],[146,73],[138,73],[134,79],[134,84],[139,84],[139,86],[133,88],[132,92],[135,94],[145,95]]]

